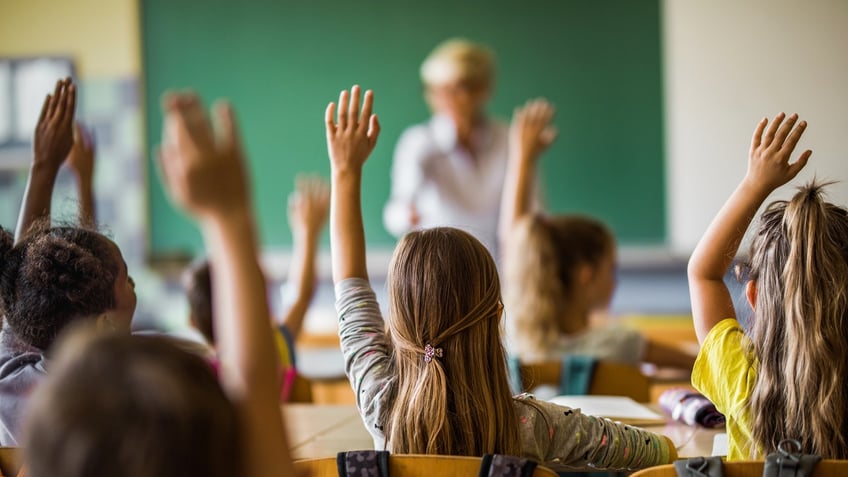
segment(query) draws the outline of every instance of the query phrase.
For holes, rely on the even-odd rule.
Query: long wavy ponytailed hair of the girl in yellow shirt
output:
[[[848,211],[822,187],[770,204],[751,243],[752,456],[791,438],[848,459]]]

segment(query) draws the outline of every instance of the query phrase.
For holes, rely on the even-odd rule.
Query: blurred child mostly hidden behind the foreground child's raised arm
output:
[[[294,342],[300,334],[306,311],[315,295],[317,283],[315,261],[318,241],[327,222],[330,206],[329,184],[319,177],[299,177],[295,192],[289,197],[288,218],[294,235],[291,267],[287,289],[292,297],[284,303],[285,315],[272,326],[276,343],[283,389],[281,400],[287,401],[294,380]],[[210,358],[215,356],[214,304],[208,260],[193,263],[183,273],[183,286],[189,302],[189,322],[211,346]]]

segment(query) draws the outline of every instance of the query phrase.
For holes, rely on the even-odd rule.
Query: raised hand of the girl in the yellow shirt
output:
[[[801,153],[795,162],[789,162],[795,146],[807,128],[806,121],[796,125],[797,121],[797,114],[786,118],[785,114],[780,113],[775,116],[768,130],[766,130],[767,118],[763,118],[757,124],[751,139],[746,181],[771,192],[792,180],[807,165],[813,153],[810,150]],[[764,131],[765,135],[763,135]]]

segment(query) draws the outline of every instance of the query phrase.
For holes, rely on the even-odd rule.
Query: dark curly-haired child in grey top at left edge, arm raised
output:
[[[0,445],[17,446],[23,409],[46,375],[46,356],[72,324],[129,334],[135,284],[121,251],[87,226],[51,226],[53,184],[63,162],[80,182],[82,221],[93,222],[93,152],[74,144],[76,87],[60,80],[42,106],[17,236],[0,228]],[[77,141],[83,138],[77,134]],[[76,157],[82,153],[85,157]],[[71,156],[69,156],[71,154]]]

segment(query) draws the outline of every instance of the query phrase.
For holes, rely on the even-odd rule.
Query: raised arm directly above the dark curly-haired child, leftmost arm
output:
[[[15,229],[15,242],[20,241],[38,219],[50,216],[56,175],[73,145],[76,100],[76,86],[70,78],[57,81],[53,94],[44,100],[35,126],[32,166]]]

